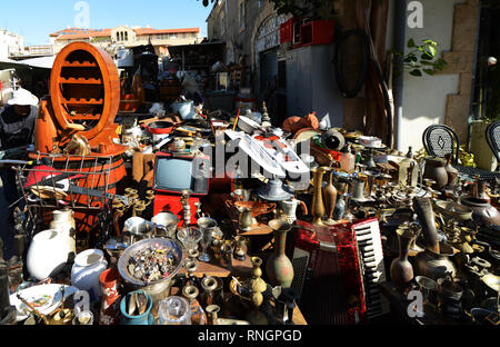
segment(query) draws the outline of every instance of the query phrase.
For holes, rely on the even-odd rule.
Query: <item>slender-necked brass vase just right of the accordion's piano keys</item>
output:
[[[408,260],[408,252],[416,239],[416,235],[408,227],[398,228],[397,234],[399,240],[399,257],[392,260],[390,272],[392,284],[402,287],[413,279],[413,267]]]

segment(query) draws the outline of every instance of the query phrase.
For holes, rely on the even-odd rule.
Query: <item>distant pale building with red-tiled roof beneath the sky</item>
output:
[[[116,47],[133,48],[151,43],[158,56],[166,57],[169,46],[198,43],[202,38],[200,28],[152,29],[120,26],[112,29],[68,28],[51,33],[50,40],[56,54],[71,42],[86,41],[108,51]]]

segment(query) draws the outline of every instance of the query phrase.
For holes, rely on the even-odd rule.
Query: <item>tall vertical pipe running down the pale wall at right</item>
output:
[[[396,0],[394,1],[394,13],[393,13],[393,46],[397,52],[404,54],[406,48],[406,32],[407,32],[407,1]],[[394,98],[394,128],[396,131],[396,148],[401,150],[401,139],[402,139],[402,115],[403,115],[403,70],[402,70],[402,57],[394,56],[394,66],[397,71],[393,76],[393,98]]]

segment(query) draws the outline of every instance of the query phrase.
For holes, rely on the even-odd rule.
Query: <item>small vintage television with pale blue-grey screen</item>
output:
[[[189,189],[192,194],[207,194],[208,177],[201,175],[198,178],[193,171],[194,165],[200,165],[200,161],[193,161],[191,158],[157,157],[154,189],[179,192]]]

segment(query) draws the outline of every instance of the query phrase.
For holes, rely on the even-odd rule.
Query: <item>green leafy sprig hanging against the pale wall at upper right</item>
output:
[[[422,40],[422,44],[417,46],[413,39],[408,40],[408,48],[412,49],[409,53],[394,52],[402,57],[402,68],[410,70],[411,76],[421,77],[423,73],[434,75],[436,70],[442,71],[447,61],[438,57],[438,42],[432,40]]]

